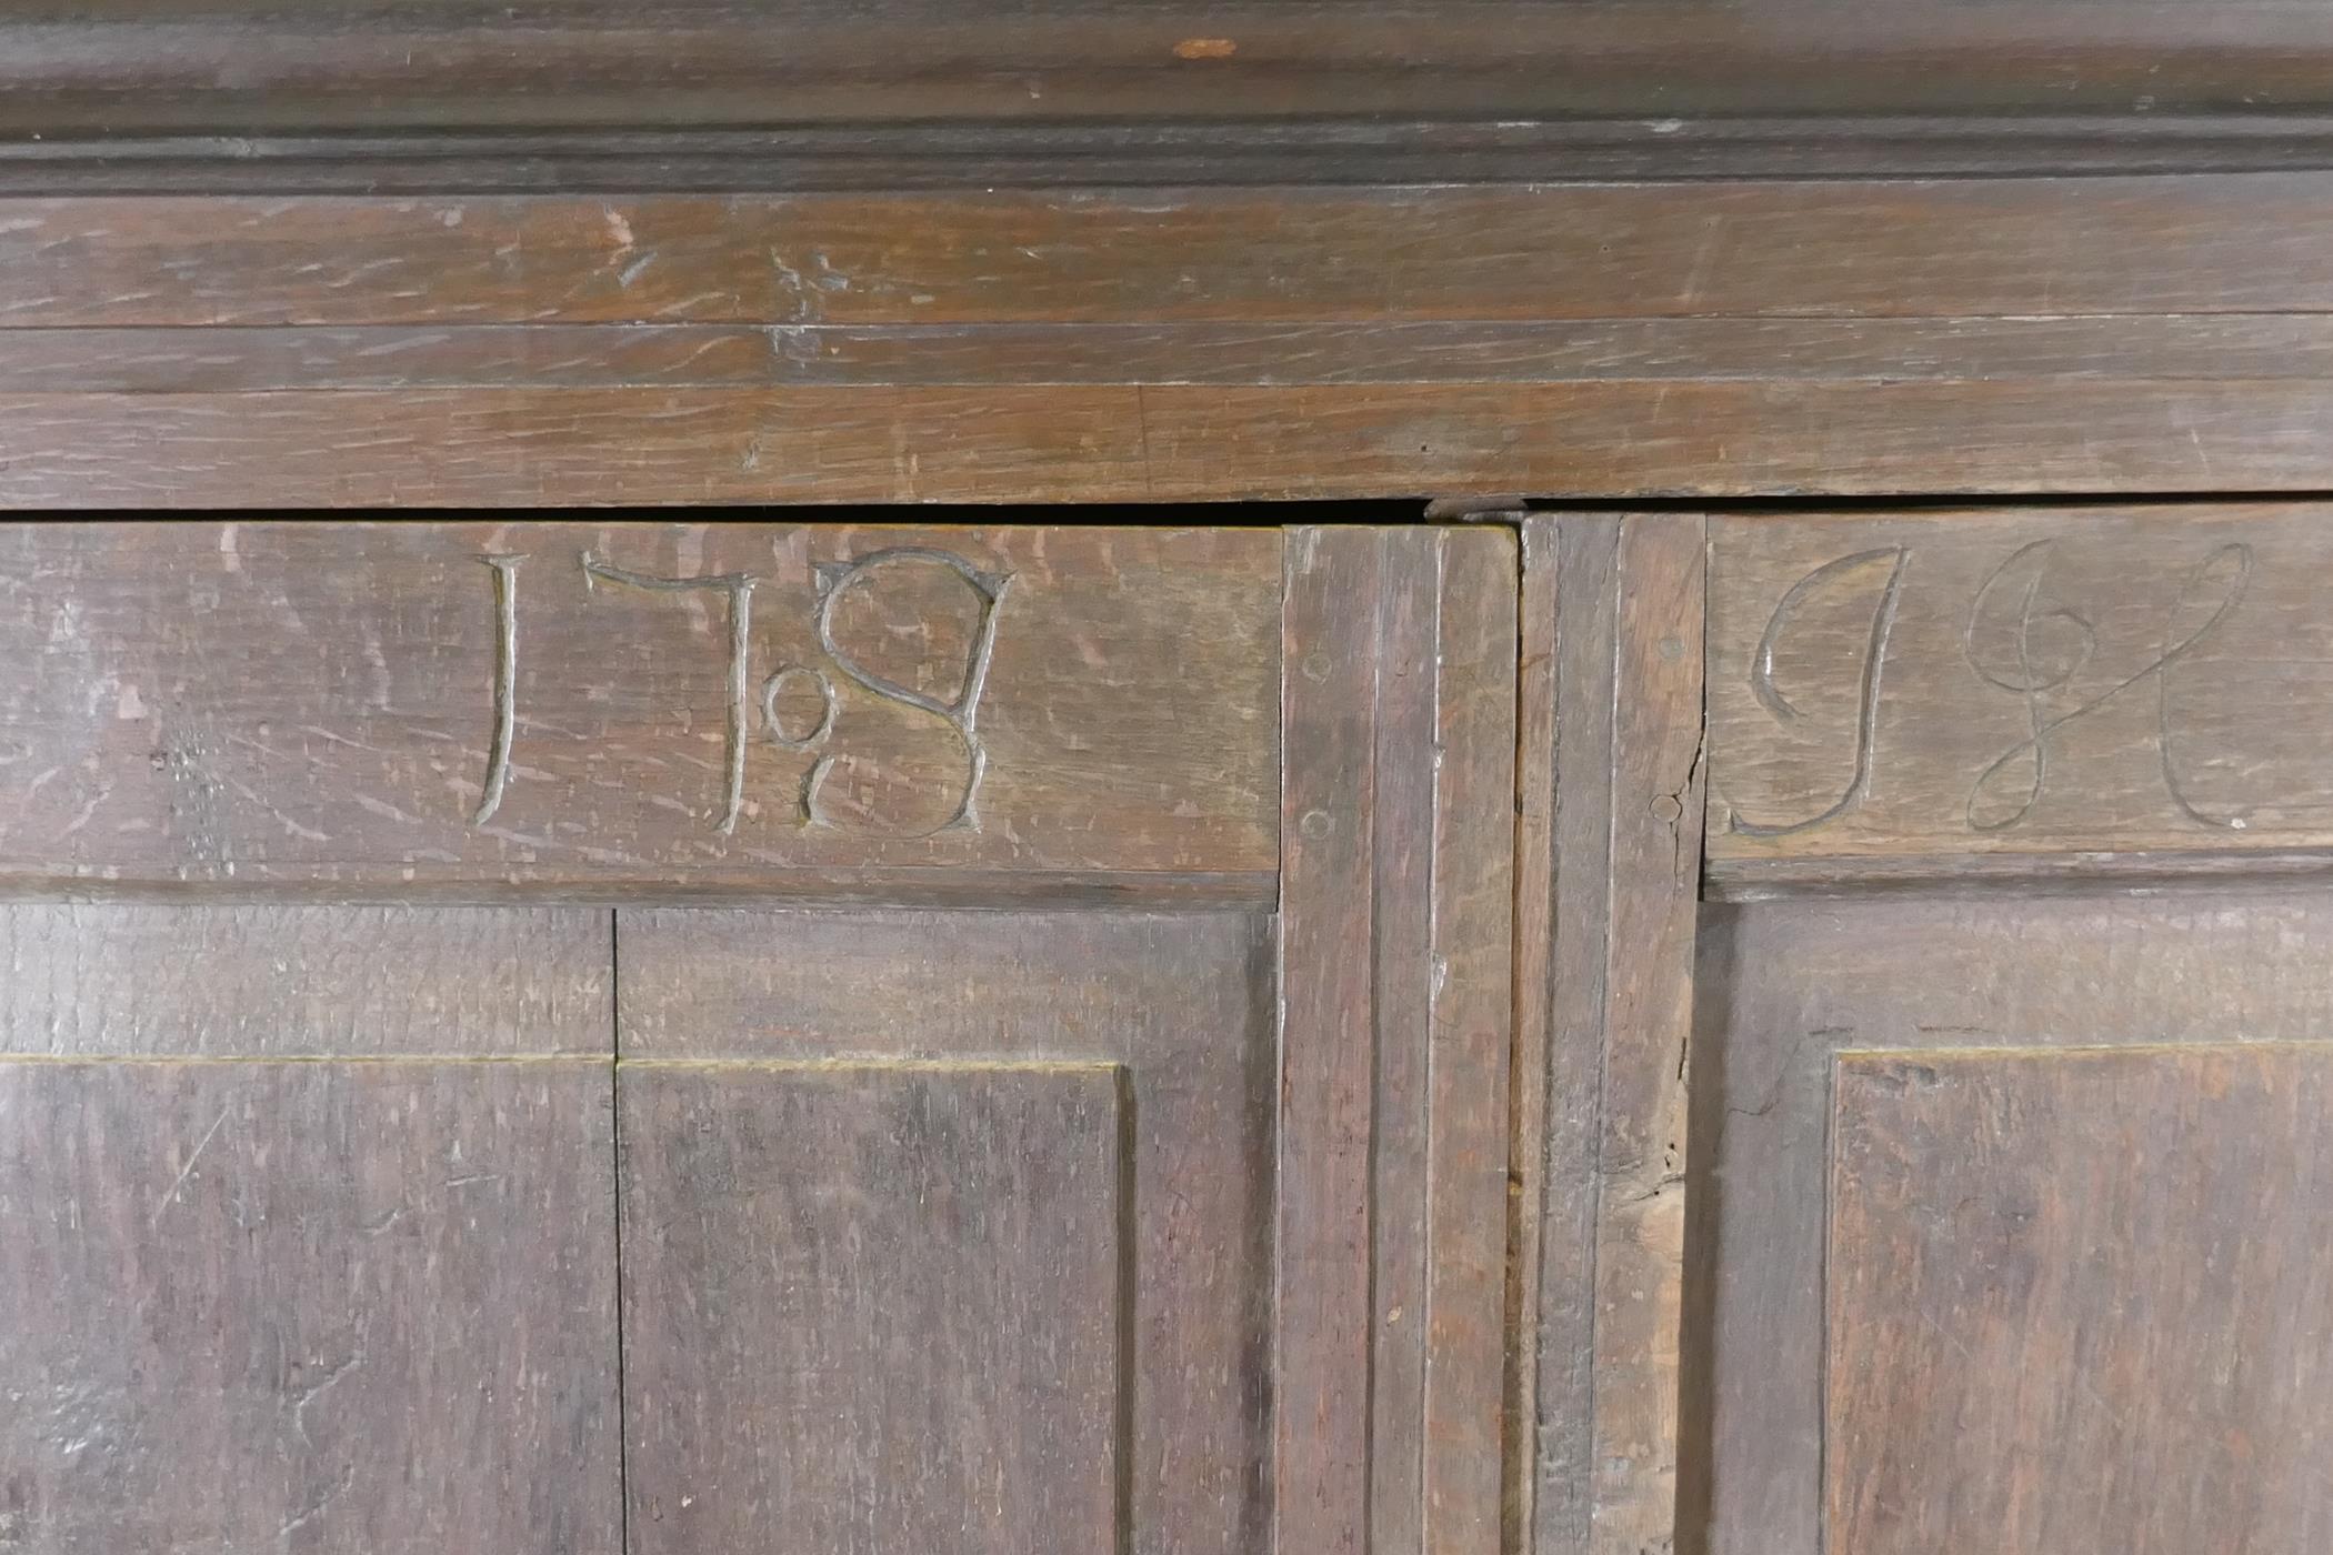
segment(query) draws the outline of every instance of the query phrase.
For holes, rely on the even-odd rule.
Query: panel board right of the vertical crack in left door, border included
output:
[[[747,1527],[735,1520],[747,1518],[744,1506],[777,1513],[789,1497],[807,1497],[805,1527],[824,1534],[805,1550],[859,1548],[854,1539],[912,1543],[938,1527],[931,1518],[961,1515],[936,1504],[947,1499],[952,1476],[980,1462],[978,1448],[959,1457],[912,1445],[922,1441],[912,1431],[910,1445],[891,1443],[873,1420],[838,1441],[842,1424],[819,1396],[765,1378],[765,1341],[751,1324],[712,1341],[716,1350],[728,1343],[756,1352],[740,1361],[742,1375],[686,1382],[714,1361],[679,1350],[707,1341],[658,1308],[707,1287],[733,1292],[737,1310],[754,1313],[761,1327],[775,1322],[777,1308],[793,1313],[803,1327],[796,1343],[817,1352],[866,1348],[868,1327],[880,1324],[896,1343],[870,1366],[880,1387],[908,1389],[922,1373],[919,1417],[989,1422],[992,1457],[1010,1457],[1034,1476],[1027,1492],[1045,1497],[1045,1506],[1101,1494],[1092,1515],[1073,1522],[1097,1539],[1125,1527],[1127,1548],[1222,1555],[1264,1541],[1276,1030],[1269,919],[625,909],[618,944],[632,1527],[646,1518],[670,1527],[674,1541],[651,1550],[733,1548],[735,1529]],[[805,1107],[810,1114],[791,1133],[824,1140],[819,1147],[765,1135],[754,1121]],[[943,1128],[940,1117],[957,1121]],[[714,1142],[691,1142],[691,1128],[709,1128]],[[742,1161],[751,1156],[742,1131],[765,1138],[782,1159],[735,1170],[700,1166],[684,1191],[674,1166],[681,1145],[691,1145],[691,1159],[716,1152],[719,1161]],[[859,1170],[854,1149],[882,1161]],[[835,1201],[800,1189],[812,1196],[789,1215],[777,1189],[761,1189],[768,1203],[756,1198],[751,1184],[786,1170],[826,1184]],[[943,1180],[954,1184],[947,1194],[957,1217],[994,1217],[999,1229],[929,1229],[950,1210],[931,1191],[908,1194],[901,1184]],[[695,1224],[730,1196],[756,1198],[754,1233],[714,1236]],[[772,1240],[840,1238],[852,1215],[866,1219],[868,1245],[800,1268],[772,1259]],[[674,1231],[672,1217],[691,1224]],[[1022,1243],[1003,1233],[1031,1217],[1050,1229]],[[917,1240],[924,1254],[912,1254]],[[877,1268],[891,1247],[896,1261]],[[868,1306],[854,1308],[854,1294]],[[891,1327],[873,1310],[884,1301],[924,1320]],[[1090,1385],[1073,1399],[1024,1396],[1015,1385],[1022,1359],[1006,1352],[982,1361],[954,1341],[1010,1322],[1036,1324],[1029,1343],[1062,1345],[1064,1361],[1083,1357]],[[982,1364],[1003,1371],[987,1375]],[[749,1380],[770,1385],[749,1389]],[[728,1420],[751,1452],[735,1471],[714,1473],[719,1455],[693,1459],[691,1438],[653,1408],[686,1392],[684,1382],[723,1396],[737,1389],[740,1408]],[[880,1508],[861,1513],[873,1522],[852,1525],[849,1497],[833,1487],[852,1464],[875,1473],[887,1452],[901,1452],[889,1473],[922,1466],[926,1478],[915,1490],[887,1490]],[[1090,1483],[1094,1464],[1111,1466],[1099,1492]],[[709,1476],[726,1485],[728,1511],[674,1518],[679,1497],[693,1497]],[[994,1497],[985,1504],[994,1506]],[[1038,1501],[1015,1506],[1038,1515]],[[999,1513],[968,1548],[1043,1548],[1041,1539],[1031,1543],[1038,1525],[1017,1518]]]

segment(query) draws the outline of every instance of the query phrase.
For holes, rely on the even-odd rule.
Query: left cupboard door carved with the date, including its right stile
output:
[[[1512,532],[0,557],[0,1548],[1500,1548]]]

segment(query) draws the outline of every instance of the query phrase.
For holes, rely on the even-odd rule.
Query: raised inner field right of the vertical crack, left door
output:
[[[1132,1550],[1120,1079],[628,1065],[630,1548]]]

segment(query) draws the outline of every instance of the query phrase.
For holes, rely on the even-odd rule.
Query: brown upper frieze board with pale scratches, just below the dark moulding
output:
[[[0,324],[2324,312],[2328,180],[33,198]]]

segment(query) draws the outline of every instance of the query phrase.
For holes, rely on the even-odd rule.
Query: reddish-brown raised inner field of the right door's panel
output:
[[[2333,1543],[2328,1103],[2324,1044],[1841,1056],[1824,1548]]]

